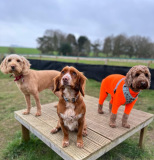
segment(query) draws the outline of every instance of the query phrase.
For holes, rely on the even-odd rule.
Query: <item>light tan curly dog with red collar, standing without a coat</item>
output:
[[[27,103],[27,110],[23,114],[29,114],[31,109],[30,95],[34,96],[37,112],[36,116],[41,115],[41,104],[39,99],[39,92],[44,89],[54,89],[53,79],[60,74],[59,71],[46,70],[35,71],[30,69],[29,61],[23,56],[11,54],[7,56],[1,63],[0,69],[3,73],[15,77],[15,82],[18,88],[25,96]],[[60,96],[59,93],[55,93]]]

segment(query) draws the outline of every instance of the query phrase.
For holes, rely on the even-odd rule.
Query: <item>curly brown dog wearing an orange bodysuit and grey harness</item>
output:
[[[132,67],[126,76],[113,74],[106,77],[101,83],[98,113],[103,113],[103,102],[107,95],[110,94],[110,127],[116,127],[118,108],[125,104],[122,126],[130,128],[130,125],[127,123],[128,116],[138,99],[140,90],[149,88],[150,81],[150,71],[148,67],[143,65]]]

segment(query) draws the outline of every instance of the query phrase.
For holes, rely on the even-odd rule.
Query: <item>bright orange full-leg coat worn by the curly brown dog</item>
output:
[[[117,114],[118,108],[121,105],[125,104],[125,111],[124,113],[130,114],[135,102],[138,99],[138,92],[134,92],[129,88],[129,93],[133,98],[136,98],[131,103],[126,104],[126,98],[123,93],[123,86],[125,84],[124,80],[125,76],[120,74],[112,74],[107,76],[105,79],[102,80],[101,88],[100,88],[100,97],[99,97],[99,104],[102,105],[104,100],[106,99],[108,93],[111,95],[110,103],[112,104],[112,113]],[[120,82],[121,80],[121,82]],[[117,83],[120,82],[118,85]],[[116,88],[117,86],[117,88]],[[116,92],[114,89],[116,88]]]

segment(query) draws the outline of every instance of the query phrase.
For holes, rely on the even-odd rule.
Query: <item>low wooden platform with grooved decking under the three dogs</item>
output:
[[[57,102],[42,105],[42,116],[40,117],[34,116],[36,108],[32,108],[29,115],[22,115],[23,110],[16,111],[15,118],[23,126],[23,136],[25,139],[29,138],[28,132],[31,131],[66,160],[95,160],[141,129],[140,143],[142,144],[144,128],[152,122],[152,114],[133,109],[129,117],[131,128],[125,129],[121,126],[124,110],[124,106],[121,106],[118,111],[117,128],[113,129],[109,127],[107,101],[104,104],[105,114],[103,115],[97,113],[97,98],[86,96],[84,101],[87,107],[88,136],[83,138],[85,145],[83,149],[76,147],[77,134],[75,132],[70,132],[70,145],[67,148],[62,148],[62,131],[54,135],[50,134],[51,129],[56,126],[58,120],[56,108],[54,107]]]

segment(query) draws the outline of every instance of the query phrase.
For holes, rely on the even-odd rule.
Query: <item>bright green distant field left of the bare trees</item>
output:
[[[0,47],[0,53],[5,54],[5,53],[10,53],[9,48],[12,47]],[[18,48],[15,47],[13,48],[15,54],[40,54],[40,51],[36,48]]]

